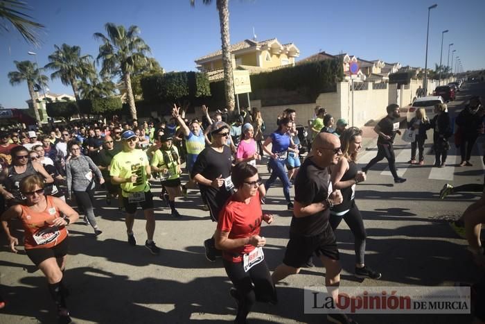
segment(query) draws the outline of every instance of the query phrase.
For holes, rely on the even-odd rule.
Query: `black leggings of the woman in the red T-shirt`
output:
[[[226,273],[238,292],[238,314],[234,323],[246,323],[254,302],[276,302],[276,290],[265,260],[244,271],[243,262],[222,260]],[[253,286],[254,284],[254,286]]]

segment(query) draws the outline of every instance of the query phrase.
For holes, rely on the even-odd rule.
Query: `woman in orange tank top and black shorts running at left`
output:
[[[58,307],[59,323],[69,323],[62,284],[66,266],[68,235],[66,226],[78,220],[79,215],[60,198],[44,196],[44,180],[37,175],[27,176],[20,182],[20,191],[26,197],[23,205],[13,205],[1,216],[10,249],[17,253],[19,244],[10,235],[8,221],[18,218],[24,228],[24,246],[30,260],[44,273],[48,289]],[[60,214],[64,214],[64,218]]]

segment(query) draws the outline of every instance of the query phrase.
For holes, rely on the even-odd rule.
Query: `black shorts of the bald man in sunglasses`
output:
[[[293,268],[301,268],[303,264],[306,264],[312,253],[315,253],[317,257],[324,255],[330,259],[340,259],[337,239],[335,239],[330,225],[327,226],[324,232],[312,237],[303,237],[290,233],[290,241],[288,241],[286,246],[283,263]]]

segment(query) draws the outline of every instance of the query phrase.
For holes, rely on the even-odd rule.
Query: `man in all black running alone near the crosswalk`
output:
[[[396,155],[394,155],[394,148],[392,146],[396,134],[401,134],[399,130],[399,105],[391,103],[387,106],[386,110],[387,116],[382,118],[374,128],[374,132],[379,135],[377,139],[377,155],[369,164],[362,168],[362,171],[367,173],[374,164],[385,157],[387,162],[389,162],[389,171],[391,171],[394,177],[394,182],[403,183],[406,179],[400,178],[396,172]]]

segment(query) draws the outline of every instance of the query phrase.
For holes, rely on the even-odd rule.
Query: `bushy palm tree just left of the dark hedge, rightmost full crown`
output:
[[[99,46],[96,62],[103,60],[101,75],[110,73],[121,76],[127,89],[132,119],[137,119],[131,74],[136,71],[136,68],[148,64],[145,55],[150,53],[150,47],[138,36],[140,29],[137,26],[130,26],[126,30],[124,26],[116,26],[109,22],[105,24],[105,28],[107,36],[102,33],[94,33],[94,37],[103,42]]]

